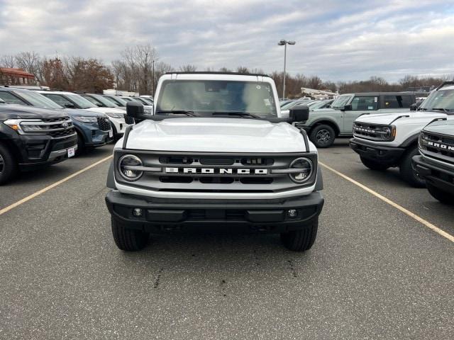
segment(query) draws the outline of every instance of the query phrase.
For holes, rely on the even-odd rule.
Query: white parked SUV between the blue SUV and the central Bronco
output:
[[[126,117],[124,110],[120,108],[100,108],[94,105],[91,101],[86,98],[73,94],[72,92],[63,91],[38,91],[43,96],[46,96],[60,106],[65,108],[79,108],[85,111],[104,113],[109,117],[111,122],[112,130],[114,130],[114,138],[118,139],[123,136],[128,125],[133,125],[134,120],[131,117]]]

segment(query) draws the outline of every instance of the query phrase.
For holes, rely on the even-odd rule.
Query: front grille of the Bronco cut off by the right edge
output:
[[[419,135],[419,147],[433,158],[454,164],[454,139],[451,136],[423,131]]]

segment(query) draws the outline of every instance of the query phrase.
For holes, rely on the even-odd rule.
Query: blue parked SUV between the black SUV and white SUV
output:
[[[77,152],[92,147],[101,147],[113,138],[109,118],[103,113],[63,108],[36,91],[0,87],[0,98],[9,103],[64,110],[69,115],[77,132]]]

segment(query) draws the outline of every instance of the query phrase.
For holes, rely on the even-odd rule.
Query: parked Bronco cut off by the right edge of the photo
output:
[[[413,165],[426,180],[428,192],[442,203],[454,204],[454,119],[441,118],[423,128],[419,153]]]

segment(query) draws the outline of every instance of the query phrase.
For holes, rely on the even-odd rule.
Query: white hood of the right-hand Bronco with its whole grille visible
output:
[[[409,117],[405,117],[409,116]],[[402,117],[397,119],[398,117]],[[399,113],[383,113],[377,115],[360,115],[356,118],[356,122],[370,123],[370,124],[383,124],[383,125],[403,125],[403,124],[421,124],[430,122],[435,118],[446,117],[442,112],[427,112],[427,111],[409,111]]]

